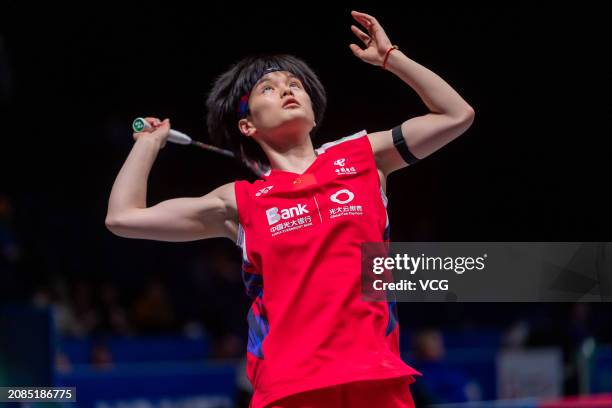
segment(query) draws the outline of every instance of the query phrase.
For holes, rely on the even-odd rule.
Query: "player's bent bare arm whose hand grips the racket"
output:
[[[113,184],[107,228],[125,238],[180,242],[226,237],[235,241],[238,212],[234,183],[201,197],[174,198],[147,207],[147,179],[168,140],[170,121],[145,120],[149,126],[134,133],[136,142]]]

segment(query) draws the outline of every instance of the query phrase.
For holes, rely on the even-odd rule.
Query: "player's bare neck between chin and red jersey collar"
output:
[[[288,136],[278,138],[277,140],[281,140],[280,143],[260,141],[260,145],[268,156],[273,170],[303,173],[317,156],[310,135]]]

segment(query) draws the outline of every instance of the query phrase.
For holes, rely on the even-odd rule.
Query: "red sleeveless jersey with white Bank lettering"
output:
[[[253,407],[352,381],[420,375],[399,355],[394,302],[361,296],[362,242],[389,239],[365,131],[316,149],[302,174],[235,183]]]

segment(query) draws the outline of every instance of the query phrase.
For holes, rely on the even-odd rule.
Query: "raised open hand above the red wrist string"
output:
[[[353,33],[366,46],[365,50],[362,50],[357,45],[351,44],[349,45],[351,51],[353,51],[357,58],[368,64],[382,66],[385,54],[392,46],[389,37],[385,34],[385,30],[383,30],[374,17],[368,14],[351,11],[351,15],[368,31],[368,34],[366,34],[354,25],[351,26]]]

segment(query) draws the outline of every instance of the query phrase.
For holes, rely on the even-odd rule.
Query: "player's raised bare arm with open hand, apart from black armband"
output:
[[[351,44],[353,54],[372,65],[382,66],[392,46],[391,41],[374,17],[356,11],[351,14],[369,33],[351,26],[355,35],[366,45],[366,49],[362,50]],[[429,156],[471,126],[474,109],[438,75],[411,60],[400,50],[389,53],[385,68],[410,85],[430,110],[426,115],[402,123],[406,145],[415,157],[422,159]],[[370,133],[368,137],[378,169],[385,176],[408,165],[393,145],[391,129]]]

